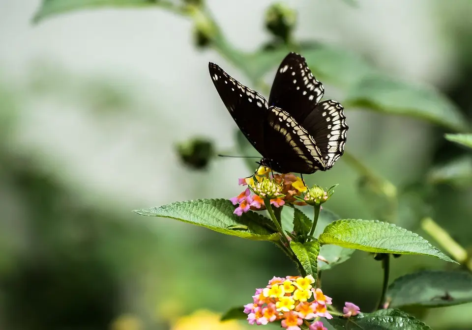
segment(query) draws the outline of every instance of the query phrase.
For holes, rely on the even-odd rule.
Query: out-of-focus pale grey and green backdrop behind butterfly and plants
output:
[[[271,39],[264,20],[273,1],[206,2],[234,47],[251,52]],[[283,3],[298,14],[295,38],[433,85],[471,119],[471,1]],[[269,243],[132,213],[240,192],[237,179],[251,174],[244,160],[194,169],[176,146],[201,136],[215,152],[238,154],[208,61],[256,86],[214,50],[196,47],[191,21],[161,8],[76,11],[33,24],[40,6],[0,0],[0,329],[177,329],[184,315],[224,312],[250,302],[273,275],[295,275]],[[325,90],[345,96],[329,83]],[[471,247],[471,155],[443,138],[449,130],[362,109],[346,115],[346,150],[405,192],[396,223],[425,235],[419,220],[432,216]],[[437,174],[444,166],[449,174]],[[341,218],[381,217],[343,158],[307,180],[340,184],[327,207]],[[444,267],[403,256],[392,261],[391,278]],[[381,265],[356,252],[323,285],[338,306],[372,310]],[[434,329],[472,329],[471,304],[414,312]]]

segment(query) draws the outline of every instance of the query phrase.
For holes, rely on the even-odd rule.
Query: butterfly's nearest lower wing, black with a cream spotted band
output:
[[[270,139],[266,158],[272,160],[273,169],[286,173],[313,173],[326,167],[315,140],[286,111],[270,107],[265,129]]]

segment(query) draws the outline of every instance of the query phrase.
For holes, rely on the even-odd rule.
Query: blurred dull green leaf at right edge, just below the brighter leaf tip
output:
[[[436,166],[429,171],[427,179],[432,184],[446,183],[468,188],[472,184],[472,158],[465,156]]]

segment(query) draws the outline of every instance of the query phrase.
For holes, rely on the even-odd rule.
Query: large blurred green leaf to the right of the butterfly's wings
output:
[[[343,105],[417,117],[459,132],[469,129],[463,114],[438,91],[380,75],[355,84]]]

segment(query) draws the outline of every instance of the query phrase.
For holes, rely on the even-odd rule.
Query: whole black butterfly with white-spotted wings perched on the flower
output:
[[[269,102],[214,63],[211,79],[244,136],[263,156],[260,164],[280,173],[328,170],[344,152],[346,117],[336,101],[319,102],[323,84],[305,58],[290,53],[277,70]]]

